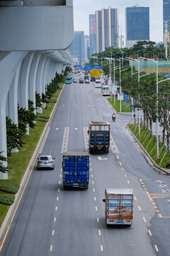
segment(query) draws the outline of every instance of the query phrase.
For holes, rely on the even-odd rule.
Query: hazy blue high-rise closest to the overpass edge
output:
[[[85,61],[84,31],[74,31],[74,41],[69,51],[73,57],[78,57],[79,63]]]

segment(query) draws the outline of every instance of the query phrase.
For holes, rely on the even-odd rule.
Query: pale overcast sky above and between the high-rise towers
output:
[[[73,0],[74,31],[89,35],[89,14],[111,6],[119,10],[119,26],[125,36],[125,8],[136,4],[149,7],[150,41],[163,41],[163,0]]]

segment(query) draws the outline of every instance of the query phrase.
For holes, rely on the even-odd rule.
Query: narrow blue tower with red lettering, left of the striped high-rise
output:
[[[90,49],[89,55],[96,53],[96,16],[95,14],[89,14],[89,39]]]

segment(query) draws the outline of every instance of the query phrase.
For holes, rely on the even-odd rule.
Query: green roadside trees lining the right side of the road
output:
[[[108,47],[105,51],[95,54],[94,56],[98,57],[98,64],[103,65],[103,72],[105,75],[109,75],[109,64],[108,60],[102,60],[100,58],[118,58],[121,57],[130,57],[130,58],[152,58],[164,59],[165,58],[165,49],[163,45],[154,46],[152,41],[139,41],[132,48],[123,48],[122,50],[118,48]],[[89,65],[94,65],[96,58],[91,58]],[[133,98],[133,105],[135,108],[140,108],[143,111],[144,117],[141,119],[141,127],[145,132],[151,131],[152,137],[152,124],[156,122],[157,117],[163,128],[162,138],[160,139],[160,148],[161,143],[163,143],[163,148],[166,147],[166,154],[164,159],[169,158],[169,137],[170,137],[170,82],[166,80],[160,82],[158,85],[158,94],[157,94],[157,78],[156,73],[147,73],[140,71],[140,82],[138,82],[138,74],[135,68],[129,67],[129,60],[115,60],[115,66],[118,67],[121,64],[121,88],[123,94],[128,94],[128,100],[131,102]],[[115,69],[115,82],[118,85],[118,92],[120,87],[120,70],[119,68]],[[133,74],[133,75],[132,75]],[[113,70],[112,70],[113,78]],[[162,81],[166,78],[164,75],[159,74],[158,80]],[[157,100],[158,112],[157,112]],[[113,100],[112,100],[113,101]],[[113,103],[111,103],[113,104]],[[118,110],[118,102],[113,105]],[[154,137],[154,141],[156,138]],[[154,150],[153,150],[154,151]],[[162,158],[162,152],[159,151],[159,159]],[[167,157],[166,157],[167,156]],[[155,154],[157,159],[157,154]],[[157,159],[158,161],[158,159]],[[164,161],[163,161],[164,163]],[[166,165],[166,164],[165,164]],[[165,166],[164,165],[164,166]]]

